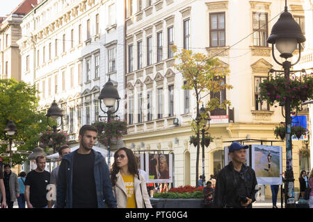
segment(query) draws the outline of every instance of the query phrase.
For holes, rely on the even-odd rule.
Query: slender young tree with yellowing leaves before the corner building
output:
[[[232,89],[232,85],[225,83],[229,74],[227,67],[223,66],[218,58],[211,58],[204,53],[193,53],[193,51],[182,49],[177,51],[177,46],[172,46],[175,53],[175,68],[182,73],[186,80],[183,89],[193,90],[196,100],[196,118],[191,121],[193,133],[197,136],[197,160],[195,167],[195,182],[198,187],[199,155],[200,155],[200,130],[204,128],[204,118],[207,119],[208,112],[216,109],[226,109],[230,101],[220,101],[219,98],[209,98],[210,93],[220,92],[225,89]],[[207,102],[204,102],[204,99]],[[200,105],[204,106],[205,112],[200,113]]]

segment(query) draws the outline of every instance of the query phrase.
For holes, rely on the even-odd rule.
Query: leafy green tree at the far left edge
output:
[[[32,151],[38,146],[39,134],[47,128],[45,113],[38,109],[39,97],[34,85],[15,79],[0,80],[0,139],[8,140],[4,128],[6,123],[12,120],[17,126],[17,133],[13,140],[25,142],[17,146],[18,151]],[[0,152],[6,153],[8,145],[1,145]],[[13,154],[13,166],[22,164],[27,155]],[[9,162],[8,157],[3,157],[3,162]]]

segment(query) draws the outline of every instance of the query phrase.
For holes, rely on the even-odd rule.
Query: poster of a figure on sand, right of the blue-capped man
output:
[[[282,184],[282,147],[251,145],[251,163],[258,185]]]

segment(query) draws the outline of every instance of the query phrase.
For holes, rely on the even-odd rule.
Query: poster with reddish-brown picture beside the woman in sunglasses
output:
[[[172,182],[172,154],[145,153],[147,182]]]

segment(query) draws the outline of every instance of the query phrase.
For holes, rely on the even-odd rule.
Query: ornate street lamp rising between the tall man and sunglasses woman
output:
[[[115,112],[118,112],[118,108],[120,106],[120,96],[118,95],[118,89],[113,85],[111,82],[111,78],[109,77],[108,82],[104,85],[103,89],[100,92],[100,95],[98,97],[100,100],[100,109],[102,110],[102,104],[101,101],[104,102],[104,105],[108,108],[108,111],[102,110],[106,116],[99,116],[99,117],[107,117],[108,122],[111,121],[112,114],[115,114]],[[112,111],[113,105],[115,104],[115,101],[118,101],[118,108],[116,110]],[[111,135],[108,140],[108,165],[110,167],[111,164]]]

